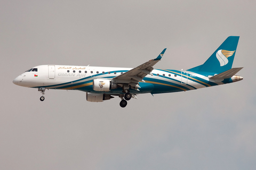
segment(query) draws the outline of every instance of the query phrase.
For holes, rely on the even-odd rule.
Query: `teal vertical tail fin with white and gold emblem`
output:
[[[204,64],[189,69],[188,71],[212,72],[219,74],[230,70],[236,54],[238,40],[238,36],[228,37]]]

